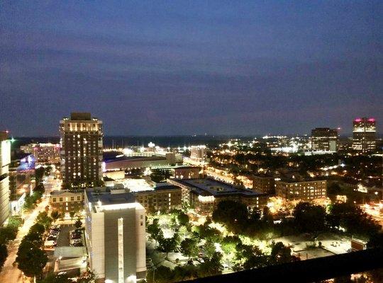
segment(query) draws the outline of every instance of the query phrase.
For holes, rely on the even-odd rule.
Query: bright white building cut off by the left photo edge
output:
[[[9,216],[9,163],[11,141],[8,132],[0,132],[0,226]]]

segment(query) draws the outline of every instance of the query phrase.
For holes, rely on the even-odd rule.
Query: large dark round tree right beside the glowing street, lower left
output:
[[[48,256],[43,250],[30,241],[21,241],[18,247],[16,262],[18,268],[28,277],[40,277],[48,262]]]

